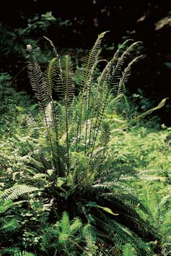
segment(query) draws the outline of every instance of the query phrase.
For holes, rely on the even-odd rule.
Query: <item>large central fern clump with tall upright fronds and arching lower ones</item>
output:
[[[38,140],[29,142],[30,154],[22,159],[27,166],[22,183],[39,186],[43,197],[53,202],[59,214],[66,210],[71,218],[79,216],[85,223],[88,221],[95,229],[97,240],[119,249],[122,244],[131,243],[139,255],[152,255],[146,242],[159,242],[161,238],[157,229],[139,214],[141,210],[151,216],[131,189],[130,182],[158,178],[149,176],[146,170],[115,165],[108,147],[110,127],[104,121],[110,95],[115,97],[117,106],[131,67],[139,59],[128,62],[139,42],[126,40],[95,79],[104,35],[98,36],[84,60],[77,97],[74,96],[71,58],[60,58],[49,40],[54,58],[43,73],[32,46],[27,46],[28,74],[43,116],[44,139],[41,138],[38,145]],[[60,101],[53,100],[53,92]],[[28,114],[27,119],[32,133],[38,134],[40,128],[32,115]]]

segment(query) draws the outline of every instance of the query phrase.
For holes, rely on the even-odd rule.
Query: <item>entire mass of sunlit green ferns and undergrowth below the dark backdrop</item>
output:
[[[105,34],[81,67],[46,38],[40,68],[27,45],[36,101],[1,73],[1,255],[170,255],[170,128],[152,118],[165,99],[137,113],[139,42],[106,61]]]

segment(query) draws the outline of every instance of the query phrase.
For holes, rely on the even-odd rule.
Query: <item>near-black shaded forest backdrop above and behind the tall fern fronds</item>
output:
[[[128,95],[136,94],[137,101],[141,101],[140,108],[156,106],[162,98],[171,95],[171,1],[123,1],[123,0],[97,0],[97,1],[4,1],[0,10],[1,17],[1,72],[9,72],[17,78],[12,86],[17,90],[27,90],[27,75],[20,72],[25,66],[22,54],[13,51],[12,45],[25,48],[25,34],[15,33],[19,28],[28,25],[28,19],[37,15],[52,12],[56,17],[47,30],[38,27],[32,30],[30,37],[38,39],[40,46],[44,47],[43,35],[53,40],[59,51],[68,49],[75,54],[74,49],[87,50],[92,47],[97,35],[110,30],[105,37],[103,52],[105,57],[113,56],[113,51],[119,43],[127,38],[141,40],[143,46],[139,53],[144,58],[136,64],[128,82]],[[70,23],[60,21],[68,20]],[[10,31],[10,33],[8,33]],[[11,38],[10,38],[11,36]],[[8,40],[11,45],[8,46]],[[111,46],[111,47],[110,47]],[[10,48],[11,47],[11,48]],[[10,48],[10,51],[8,49]],[[73,49],[73,50],[72,50]],[[111,51],[112,49],[113,51]],[[78,59],[79,57],[78,54]],[[144,106],[142,106],[144,98]],[[161,123],[171,124],[171,101],[167,106],[157,111]]]

